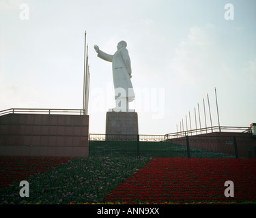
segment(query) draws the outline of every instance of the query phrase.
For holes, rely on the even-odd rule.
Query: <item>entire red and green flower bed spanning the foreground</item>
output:
[[[256,159],[8,158],[0,158],[0,204],[256,203]],[[19,196],[23,180],[29,198]]]

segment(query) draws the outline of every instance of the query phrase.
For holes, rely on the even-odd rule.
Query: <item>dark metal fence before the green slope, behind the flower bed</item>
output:
[[[255,141],[248,140],[248,137],[243,139],[185,136],[166,140],[165,136],[153,135],[90,134],[89,136],[89,157],[251,158],[253,156],[249,153],[247,155],[247,150],[254,151],[255,148]]]

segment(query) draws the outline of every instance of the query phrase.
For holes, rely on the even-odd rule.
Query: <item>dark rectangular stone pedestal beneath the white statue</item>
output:
[[[106,112],[106,134],[138,135],[137,112]]]

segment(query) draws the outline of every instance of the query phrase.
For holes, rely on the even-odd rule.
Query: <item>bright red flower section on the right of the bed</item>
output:
[[[227,198],[225,181],[233,181]],[[106,196],[104,202],[138,204],[256,202],[256,159],[154,158]]]

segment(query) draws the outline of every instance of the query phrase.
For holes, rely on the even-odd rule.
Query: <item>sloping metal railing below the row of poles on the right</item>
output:
[[[165,134],[165,140],[172,138],[180,138],[184,136],[197,136],[201,134],[210,134],[213,132],[240,132],[240,133],[251,133],[251,127],[223,127],[223,126],[214,126],[206,127],[201,129],[191,129],[188,131],[179,131],[171,134]]]

